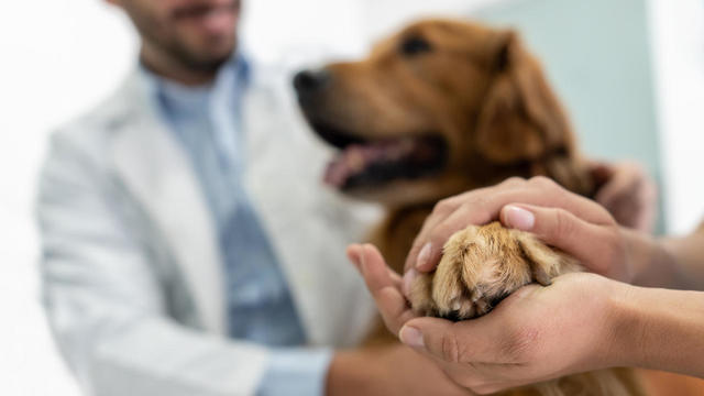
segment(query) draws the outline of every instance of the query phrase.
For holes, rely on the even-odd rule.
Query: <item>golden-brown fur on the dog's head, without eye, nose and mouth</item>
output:
[[[414,36],[431,42],[432,53],[404,58],[398,47]],[[366,59],[326,69],[331,86],[315,109],[304,109],[309,119],[372,140],[431,132],[450,148],[440,175],[346,191],[351,196],[406,210],[538,175],[582,195],[594,190],[540,64],[512,31],[422,21],[382,41]]]

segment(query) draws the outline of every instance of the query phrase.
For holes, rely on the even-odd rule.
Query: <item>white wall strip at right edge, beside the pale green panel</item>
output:
[[[650,0],[667,229],[704,219],[704,1]]]

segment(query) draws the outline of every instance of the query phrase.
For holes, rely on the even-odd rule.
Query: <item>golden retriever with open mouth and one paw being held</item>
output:
[[[311,128],[340,150],[326,183],[385,206],[371,242],[398,272],[442,198],[512,176],[546,176],[586,197],[595,190],[563,109],[513,31],[421,21],[369,58],[301,72],[294,85]],[[420,314],[464,320],[524,285],[580,270],[530,233],[469,227],[416,280],[409,301]],[[604,370],[504,394],[638,395],[631,374]]]

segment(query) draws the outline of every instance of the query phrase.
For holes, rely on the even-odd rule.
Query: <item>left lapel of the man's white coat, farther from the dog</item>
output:
[[[188,157],[160,119],[142,76],[130,78],[122,99],[124,124],[113,141],[114,166],[174,252],[204,326],[224,333],[222,260]]]

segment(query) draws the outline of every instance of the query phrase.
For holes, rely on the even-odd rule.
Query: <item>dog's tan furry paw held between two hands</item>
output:
[[[420,315],[463,320],[488,312],[524,285],[547,286],[575,271],[581,266],[574,258],[530,233],[498,222],[470,226],[450,238],[438,268],[416,278],[408,298]]]

